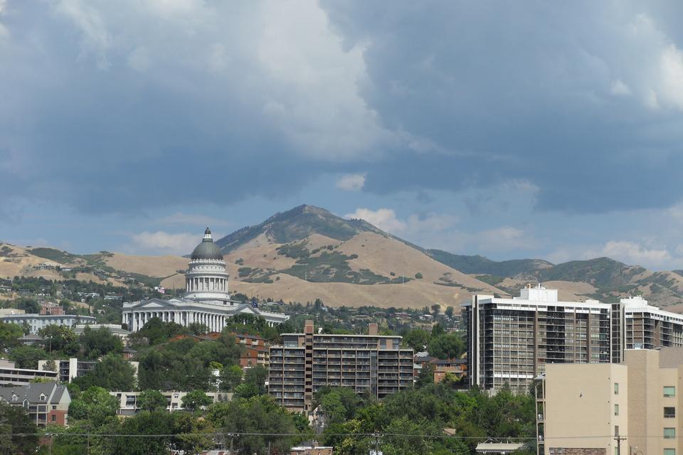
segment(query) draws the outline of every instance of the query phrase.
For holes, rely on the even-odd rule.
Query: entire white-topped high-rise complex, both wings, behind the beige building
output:
[[[513,299],[472,296],[462,313],[470,385],[485,390],[527,390],[552,363],[620,363],[625,349],[683,346],[683,316],[642,297],[559,301],[539,284]]]

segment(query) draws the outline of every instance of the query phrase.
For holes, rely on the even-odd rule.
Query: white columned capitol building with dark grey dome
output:
[[[181,326],[202,323],[209,331],[219,332],[236,314],[261,316],[269,326],[282,323],[290,316],[261,311],[249,304],[230,299],[228,272],[221,248],[213,242],[206,228],[201,243],[192,252],[185,273],[185,293],[179,299],[149,299],[123,304],[123,320],[129,331],[139,331],[152,318]]]

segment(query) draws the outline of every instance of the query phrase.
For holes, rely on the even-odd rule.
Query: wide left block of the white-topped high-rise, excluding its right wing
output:
[[[598,301],[558,301],[539,285],[514,299],[475,295],[462,309],[470,385],[526,390],[548,363],[610,361],[611,310]]]

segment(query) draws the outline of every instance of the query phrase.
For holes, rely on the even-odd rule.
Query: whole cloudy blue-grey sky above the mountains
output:
[[[0,240],[186,254],[302,203],[683,269],[679,1],[0,0]]]

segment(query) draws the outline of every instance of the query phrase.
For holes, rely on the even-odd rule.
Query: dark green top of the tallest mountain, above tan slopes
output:
[[[315,205],[302,204],[285,212],[276,213],[263,223],[247,226],[216,241],[223,252],[231,252],[240,245],[265,234],[276,243],[302,240],[319,234],[335,240],[349,240],[359,232],[388,235],[364,220],[346,220]]]

